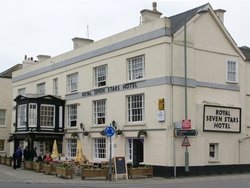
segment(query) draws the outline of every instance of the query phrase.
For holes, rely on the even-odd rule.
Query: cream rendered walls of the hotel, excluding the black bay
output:
[[[249,164],[245,57],[211,6],[202,8],[207,12],[187,22],[187,114],[198,131],[188,138],[189,165]],[[88,160],[107,161],[109,139],[100,132],[114,120],[123,134],[112,138],[113,156],[133,162],[142,152],[142,164],[183,167],[183,137],[174,136],[174,124],[185,119],[184,25],[173,31],[171,21],[158,18],[15,72],[13,97],[20,88],[37,93],[40,84],[53,95],[57,80],[57,95],[66,100],[63,152],[69,157],[76,146],[72,133],[78,133]],[[204,119],[219,121],[214,112],[219,120],[234,120],[204,127],[211,126]],[[81,123],[88,136],[82,137]],[[143,139],[140,130],[147,132]]]

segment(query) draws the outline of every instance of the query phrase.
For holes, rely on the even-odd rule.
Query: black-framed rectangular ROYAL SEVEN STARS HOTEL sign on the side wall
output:
[[[203,130],[241,132],[241,108],[204,105]]]

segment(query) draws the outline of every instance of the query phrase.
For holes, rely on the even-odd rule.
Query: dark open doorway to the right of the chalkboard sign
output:
[[[143,162],[143,139],[133,139],[133,166],[138,167]]]

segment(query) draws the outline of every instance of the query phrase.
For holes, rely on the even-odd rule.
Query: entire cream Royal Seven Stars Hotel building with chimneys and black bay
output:
[[[110,125],[112,156],[155,176],[249,171],[248,63],[224,12],[204,4],[162,17],[153,3],[135,28],[25,58],[12,79],[12,150],[46,152],[56,139],[74,158],[80,141],[89,161],[108,161]]]

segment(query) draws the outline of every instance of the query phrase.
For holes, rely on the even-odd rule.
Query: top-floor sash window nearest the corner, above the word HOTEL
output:
[[[128,78],[130,81],[144,78],[144,56],[128,59]]]

